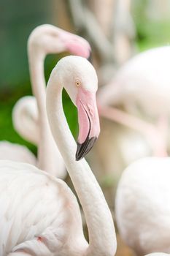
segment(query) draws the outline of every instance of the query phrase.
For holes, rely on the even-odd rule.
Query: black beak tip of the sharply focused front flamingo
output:
[[[79,161],[88,154],[91,148],[93,148],[96,139],[96,137],[90,139],[86,138],[85,142],[82,144],[77,142],[76,161]]]

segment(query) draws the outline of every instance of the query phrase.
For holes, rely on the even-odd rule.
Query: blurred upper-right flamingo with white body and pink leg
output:
[[[142,132],[156,157],[167,156],[169,58],[169,46],[137,54],[120,67],[115,78],[98,94],[101,115]],[[133,115],[142,113],[147,121],[107,106],[112,104],[124,105]],[[155,125],[148,123],[150,120]]]

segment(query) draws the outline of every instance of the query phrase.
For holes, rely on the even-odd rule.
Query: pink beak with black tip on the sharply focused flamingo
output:
[[[79,88],[77,94],[79,137],[77,141],[76,160],[85,157],[93,147],[100,133],[96,94]]]

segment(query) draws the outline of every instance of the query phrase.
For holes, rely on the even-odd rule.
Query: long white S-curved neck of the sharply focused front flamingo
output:
[[[80,199],[88,225],[89,247],[83,255],[115,255],[115,227],[107,202],[85,159],[77,162],[77,145],[69,130],[62,106],[62,87],[55,71],[47,86],[47,116],[55,142]]]

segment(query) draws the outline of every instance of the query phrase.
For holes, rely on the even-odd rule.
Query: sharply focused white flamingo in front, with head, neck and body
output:
[[[115,255],[112,215],[88,163],[83,159],[100,131],[96,71],[80,56],[66,56],[47,83],[50,128],[72,179],[88,225],[82,231],[76,197],[66,183],[26,163],[0,161],[0,255]],[[62,89],[77,106],[77,145],[62,108]]]

